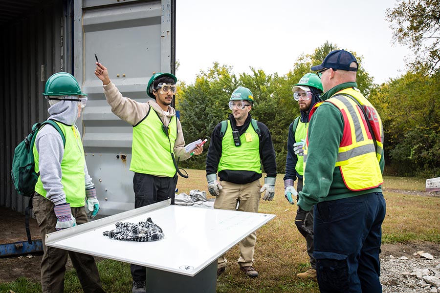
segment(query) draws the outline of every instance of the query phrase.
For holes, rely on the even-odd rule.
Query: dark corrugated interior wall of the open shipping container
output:
[[[14,148],[33,123],[48,117],[48,103],[42,96],[45,80],[72,68],[71,60],[65,58],[70,54],[66,54],[68,42],[64,38],[70,30],[66,20],[71,2],[39,2],[32,1],[35,7],[0,28],[0,206],[22,213],[27,198],[16,193],[10,175]]]

